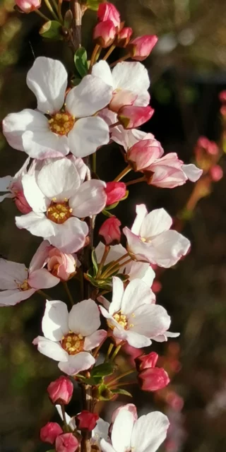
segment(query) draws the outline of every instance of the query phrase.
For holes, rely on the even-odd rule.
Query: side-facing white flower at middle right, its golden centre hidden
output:
[[[160,267],[174,266],[191,246],[186,237],[169,230],[172,218],[165,209],[148,213],[144,204],[136,206],[136,219],[131,230],[124,227],[128,251],[139,261],[156,263]]]

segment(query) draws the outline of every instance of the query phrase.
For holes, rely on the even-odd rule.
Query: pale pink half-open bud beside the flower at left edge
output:
[[[57,248],[49,251],[47,268],[61,281],[67,281],[76,271],[76,260],[72,254],[65,254]]]

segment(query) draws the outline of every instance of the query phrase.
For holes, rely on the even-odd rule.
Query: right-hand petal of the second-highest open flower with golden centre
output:
[[[100,213],[107,201],[105,186],[105,182],[97,179],[83,182],[69,200],[73,215],[83,218]]]

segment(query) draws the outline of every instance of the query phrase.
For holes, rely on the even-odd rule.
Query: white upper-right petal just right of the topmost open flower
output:
[[[131,73],[133,74],[132,77]],[[138,95],[134,105],[146,106],[149,104],[150,95],[148,88],[150,80],[148,71],[143,64],[133,61],[122,61],[114,67],[112,78],[114,89],[129,90]]]

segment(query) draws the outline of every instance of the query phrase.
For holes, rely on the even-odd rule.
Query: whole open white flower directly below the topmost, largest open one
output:
[[[81,249],[88,225],[78,218],[97,214],[105,207],[105,182],[92,179],[81,184],[73,160],[63,157],[43,165],[40,171],[34,167],[22,184],[32,212],[16,217],[16,225],[48,239],[65,253]]]

